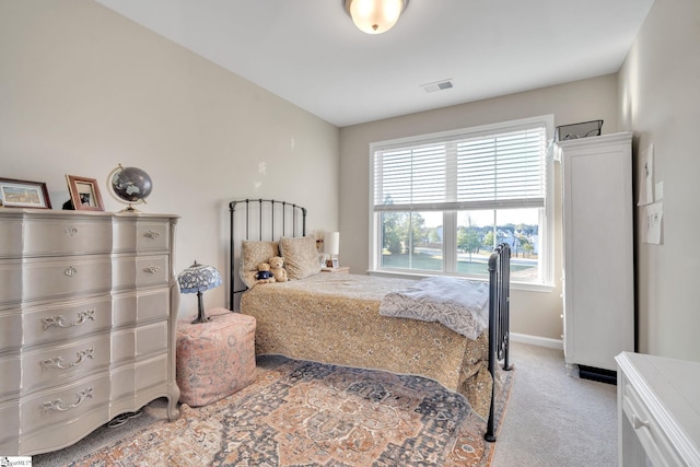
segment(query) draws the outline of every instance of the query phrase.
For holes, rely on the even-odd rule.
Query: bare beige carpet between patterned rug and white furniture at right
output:
[[[568,376],[561,350],[511,345],[517,376],[493,467],[617,466],[617,387]]]

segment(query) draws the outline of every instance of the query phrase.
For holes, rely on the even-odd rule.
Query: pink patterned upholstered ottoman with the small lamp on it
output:
[[[223,399],[255,380],[255,318],[226,308],[208,323],[177,326],[179,401],[190,407]]]

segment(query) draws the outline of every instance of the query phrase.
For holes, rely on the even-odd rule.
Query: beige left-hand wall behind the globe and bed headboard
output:
[[[284,199],[310,230],[338,224],[338,129],[89,0],[0,1],[0,177],[66,174],[106,189],[117,163],[153,178],[148,212],[175,213],[176,271],[228,276],[228,201]],[[225,306],[226,288],[205,295]],[[185,295],[180,313],[196,312]]]

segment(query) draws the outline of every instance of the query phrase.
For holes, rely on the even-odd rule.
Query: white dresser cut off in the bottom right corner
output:
[[[616,357],[621,467],[700,466],[700,362]]]

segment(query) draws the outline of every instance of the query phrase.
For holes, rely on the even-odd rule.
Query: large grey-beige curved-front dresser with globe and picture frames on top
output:
[[[176,217],[0,209],[0,454],[75,443],[167,397]]]

